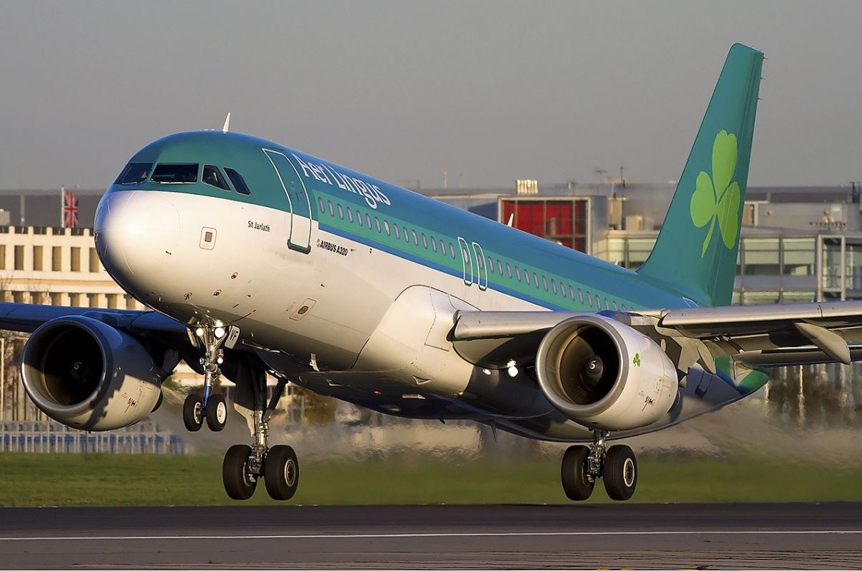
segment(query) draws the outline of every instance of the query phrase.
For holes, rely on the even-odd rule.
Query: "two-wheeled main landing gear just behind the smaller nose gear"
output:
[[[249,499],[260,478],[272,499],[290,499],[299,486],[299,461],[290,446],[278,444],[269,447],[269,419],[284,394],[286,380],[279,380],[269,404],[266,404],[266,373],[251,361],[240,367],[237,379],[238,410],[248,408],[254,443],[234,444],[224,455],[222,481],[231,499]]]

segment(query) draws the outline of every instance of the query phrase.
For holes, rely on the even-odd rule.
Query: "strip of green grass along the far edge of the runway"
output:
[[[638,502],[862,500],[862,466],[731,459],[644,459]],[[0,455],[0,506],[238,505],[221,458]],[[556,458],[393,455],[302,465],[294,504],[565,503]],[[607,502],[601,484],[590,502]],[[263,482],[247,504],[272,504]]]

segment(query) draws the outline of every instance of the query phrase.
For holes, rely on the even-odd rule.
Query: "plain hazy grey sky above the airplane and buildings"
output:
[[[0,189],[103,188],[231,128],[395,184],[677,179],[728,48],[765,53],[750,185],[862,179],[860,2],[0,3]]]

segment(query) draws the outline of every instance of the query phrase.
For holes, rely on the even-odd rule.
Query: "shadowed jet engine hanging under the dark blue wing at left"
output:
[[[164,373],[132,337],[91,317],[60,317],[24,345],[24,388],[59,423],[114,430],[147,416]]]

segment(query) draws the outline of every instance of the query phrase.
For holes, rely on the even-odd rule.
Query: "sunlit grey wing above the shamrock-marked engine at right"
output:
[[[694,343],[713,357],[750,366],[862,361],[862,301],[740,305],[647,311],[600,311],[648,336]],[[485,367],[528,361],[548,329],[584,313],[459,311],[453,342],[459,354]],[[705,360],[704,360],[705,361]]]

